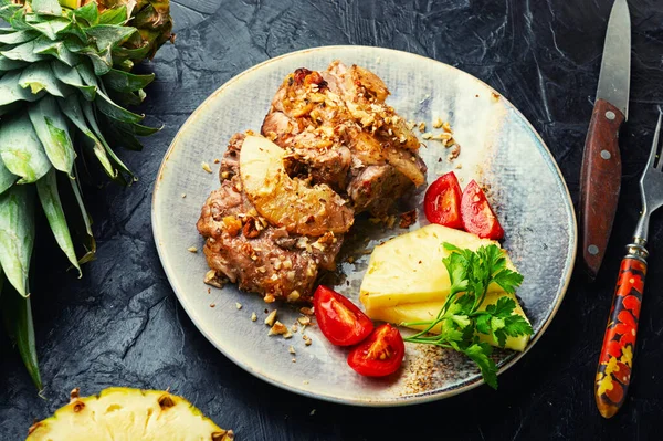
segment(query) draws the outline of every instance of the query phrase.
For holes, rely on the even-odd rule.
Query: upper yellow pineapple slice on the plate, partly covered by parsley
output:
[[[359,295],[368,316],[373,317],[377,311],[403,303],[444,302],[451,288],[449,273],[442,263],[449,255],[444,242],[472,251],[482,245],[499,246],[498,242],[438,224],[376,246]],[[505,256],[506,266],[515,271],[508,255]],[[502,291],[498,285],[488,286],[488,292],[497,291]]]

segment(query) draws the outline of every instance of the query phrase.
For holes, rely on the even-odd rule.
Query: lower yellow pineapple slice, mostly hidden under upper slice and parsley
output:
[[[518,301],[515,298],[513,294],[507,294],[505,292],[495,292],[486,295],[486,300],[483,303],[481,309],[484,309],[486,305],[494,304],[497,302],[497,298],[502,296],[508,296],[516,301],[516,308],[514,311],[515,314],[522,315],[527,319],[523,308],[518,304]],[[442,308],[444,302],[424,302],[424,303],[407,303],[397,306],[390,306],[382,309],[373,309],[372,314],[370,314],[370,318],[393,323],[396,325],[400,325],[404,322],[427,322],[435,318],[438,313]],[[412,325],[410,326],[413,329],[425,329],[428,326],[424,325]],[[432,334],[440,333],[440,325],[435,328],[431,329]],[[488,343],[490,345],[497,346],[496,342],[493,337],[478,334],[478,339],[481,342]],[[523,351],[527,343],[529,342],[529,336],[519,336],[519,337],[506,337],[506,344],[504,345],[507,349]]]

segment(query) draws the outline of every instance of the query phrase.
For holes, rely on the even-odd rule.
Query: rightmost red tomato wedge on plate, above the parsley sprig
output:
[[[488,204],[483,190],[474,180],[465,187],[461,201],[461,213],[465,231],[480,238],[499,240],[504,238],[504,230]]]

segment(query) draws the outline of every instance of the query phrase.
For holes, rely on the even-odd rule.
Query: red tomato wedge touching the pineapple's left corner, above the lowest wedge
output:
[[[315,318],[329,342],[337,346],[355,345],[371,333],[373,324],[352,302],[327,286],[313,295]]]

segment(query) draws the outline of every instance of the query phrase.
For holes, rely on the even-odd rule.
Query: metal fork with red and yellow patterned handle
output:
[[[652,150],[640,178],[642,211],[633,233],[633,242],[627,245],[627,255],[621,261],[597,368],[594,397],[599,412],[604,418],[617,413],[624,402],[631,382],[633,349],[649,255],[645,249],[649,221],[651,213],[663,206],[663,158],[657,155],[661,116],[659,109]]]

